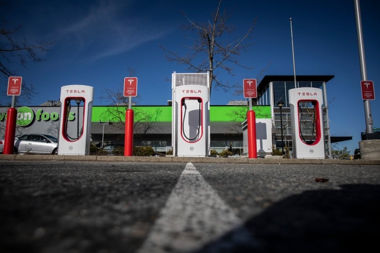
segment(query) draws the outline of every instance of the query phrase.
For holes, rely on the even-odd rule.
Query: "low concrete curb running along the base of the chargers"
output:
[[[337,159],[277,159],[247,157],[144,157],[144,156],[75,156],[75,155],[0,155],[1,160],[30,161],[99,161],[99,162],[144,162],[144,163],[252,163],[252,164],[337,164],[337,165],[380,165],[380,160],[337,160]]]

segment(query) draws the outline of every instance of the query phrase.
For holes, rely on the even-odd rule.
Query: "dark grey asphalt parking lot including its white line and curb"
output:
[[[380,164],[291,160],[0,155],[0,252],[376,248]]]

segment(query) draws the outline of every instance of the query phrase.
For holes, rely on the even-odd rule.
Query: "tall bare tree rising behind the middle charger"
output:
[[[253,67],[241,65],[237,60],[237,56],[240,55],[242,51],[247,52],[247,49],[253,45],[253,43],[249,43],[248,41],[256,19],[253,20],[252,25],[243,36],[231,41],[224,40],[226,34],[233,33],[235,28],[231,25],[227,25],[230,15],[227,10],[223,13],[221,12],[221,4],[222,0],[219,0],[217,8],[211,15],[212,19],[204,23],[192,21],[183,13],[184,17],[189,21],[189,24],[183,25],[182,29],[185,31],[196,31],[198,33],[197,37],[191,38],[193,45],[189,46],[187,55],[181,56],[161,46],[161,48],[166,51],[165,57],[168,61],[175,61],[179,64],[187,65],[188,70],[192,72],[209,72],[211,76],[209,84],[210,95],[212,84],[215,85],[214,88],[221,88],[226,91],[237,86],[237,84],[229,84],[228,82],[219,80],[215,70],[222,69],[234,76],[233,65],[245,69],[253,69]]]

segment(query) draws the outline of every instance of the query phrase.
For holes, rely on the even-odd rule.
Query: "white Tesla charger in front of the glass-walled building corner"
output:
[[[318,88],[289,90],[294,158],[324,159],[323,92]]]

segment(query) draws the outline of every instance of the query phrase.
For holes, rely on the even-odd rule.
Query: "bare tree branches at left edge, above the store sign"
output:
[[[9,29],[6,27],[7,22],[1,21],[0,28],[0,73],[6,77],[17,75],[17,71],[12,69],[11,65],[16,61],[26,67],[29,61],[40,62],[38,52],[47,51],[48,46],[52,45],[55,41],[37,41],[36,44],[29,44],[26,39],[17,40],[14,38],[15,34],[21,32],[21,25],[16,28]],[[32,83],[27,84],[22,82],[22,95],[20,96],[25,101],[29,101],[35,94],[35,88]],[[9,102],[8,102],[9,103]]]

